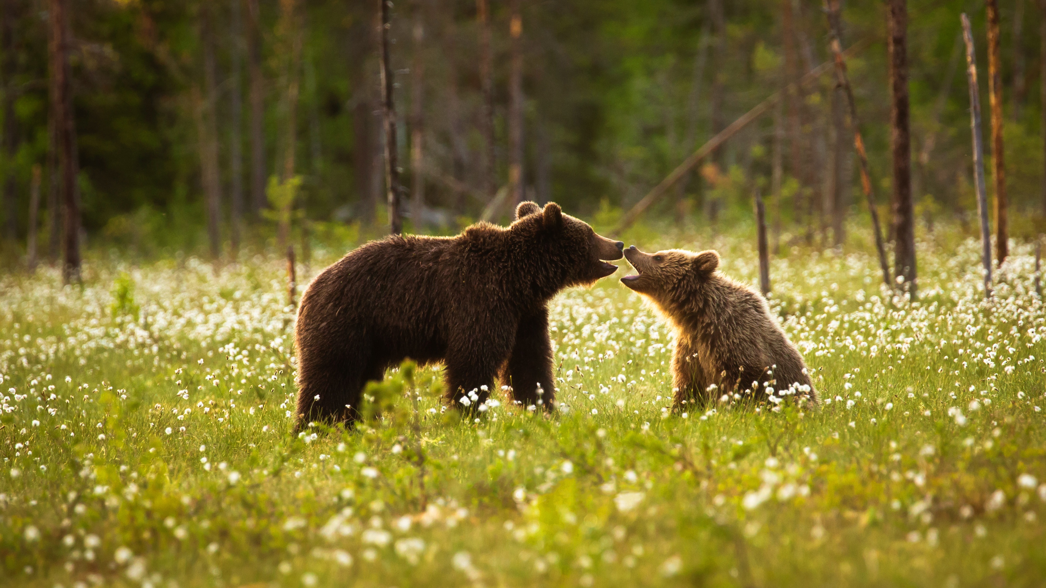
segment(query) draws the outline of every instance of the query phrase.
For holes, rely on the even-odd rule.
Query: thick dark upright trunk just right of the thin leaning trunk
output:
[[[990,0],[991,1],[991,0]],[[890,144],[893,151],[893,271],[915,297],[915,213],[911,192],[908,130],[908,2],[890,0],[887,51],[890,63]],[[899,280],[900,281],[900,280]]]

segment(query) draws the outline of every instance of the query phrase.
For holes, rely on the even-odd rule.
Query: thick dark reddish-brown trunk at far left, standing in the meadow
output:
[[[63,253],[62,281],[81,281],[79,193],[76,190],[76,125],[72,112],[72,85],[69,79],[69,5],[68,0],[49,0],[51,112],[54,115],[62,168]]]

